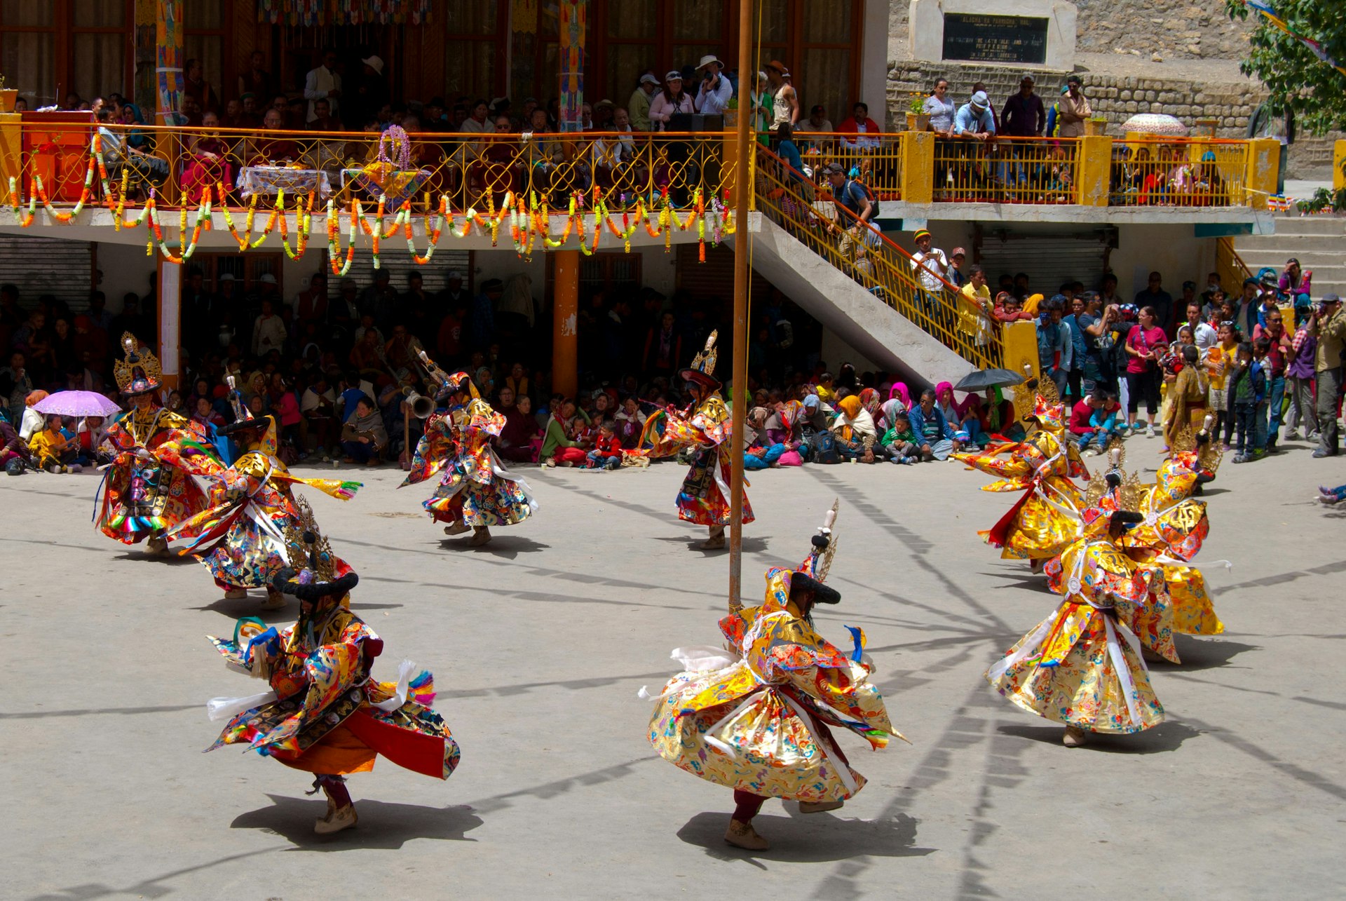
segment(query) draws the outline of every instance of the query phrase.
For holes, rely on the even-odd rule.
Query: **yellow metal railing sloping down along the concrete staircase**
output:
[[[975,366],[1001,365],[1000,329],[989,311],[976,310],[938,276],[931,276],[935,290],[927,291],[911,255],[830,195],[814,195],[804,174],[769,149],[758,151],[756,179],[758,209],[773,222]]]

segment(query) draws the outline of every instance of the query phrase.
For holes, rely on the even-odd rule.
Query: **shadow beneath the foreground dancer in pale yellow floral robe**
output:
[[[759,813],[752,819],[752,828],[771,843],[766,851],[747,851],[724,840],[724,828],[730,824],[727,811],[697,813],[677,836],[704,848],[707,857],[744,861],[763,870],[766,866],[759,859],[822,863],[856,857],[923,857],[934,851],[915,846],[917,822],[906,813],[857,820],[845,816],[844,811],[802,815],[794,801],[786,801],[787,816]]]

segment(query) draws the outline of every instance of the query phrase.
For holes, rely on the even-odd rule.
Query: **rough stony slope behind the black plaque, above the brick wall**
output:
[[[890,0],[890,58],[907,55],[909,5],[909,0]],[[1012,7],[1007,4],[1005,12],[1014,13]],[[1232,22],[1219,0],[1075,0],[1075,7],[1078,53],[1240,59],[1252,31],[1249,22]]]

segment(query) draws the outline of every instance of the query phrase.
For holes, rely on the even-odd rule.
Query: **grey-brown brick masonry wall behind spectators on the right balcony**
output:
[[[1063,71],[1035,71],[1038,93],[1050,100],[1065,82]],[[972,85],[983,82],[999,113],[1010,94],[1019,90],[1022,70],[1012,66],[977,66],[952,62],[925,62],[915,59],[888,63],[888,128],[898,129],[906,121],[907,102],[913,94],[927,96],[937,78],[948,78],[956,102],[966,102]],[[1079,73],[1085,96],[1096,114],[1109,123],[1109,133],[1119,135],[1120,125],[1135,113],[1167,113],[1189,127],[1197,119],[1218,121],[1217,136],[1245,137],[1248,117],[1267,96],[1250,82],[1211,84],[1172,77],[1147,78],[1137,75],[1105,75]],[[1291,147],[1291,178],[1330,178],[1333,141],[1341,135],[1324,137],[1303,136]]]

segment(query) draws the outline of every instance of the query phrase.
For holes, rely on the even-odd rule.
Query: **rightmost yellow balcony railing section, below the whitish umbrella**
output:
[[[1110,206],[1245,206],[1248,141],[1144,137],[1112,151]]]

